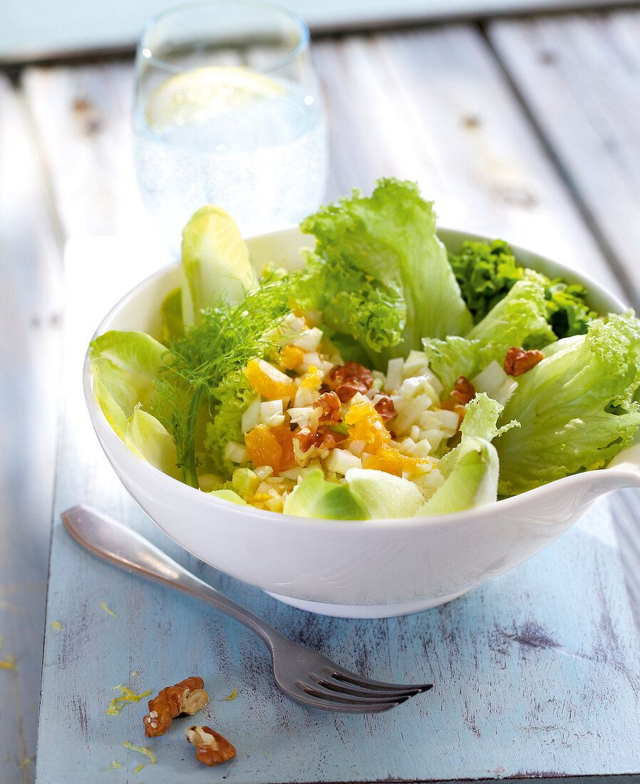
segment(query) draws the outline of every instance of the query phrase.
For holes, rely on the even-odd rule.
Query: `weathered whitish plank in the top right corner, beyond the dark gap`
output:
[[[489,40],[640,304],[640,11],[489,24]]]

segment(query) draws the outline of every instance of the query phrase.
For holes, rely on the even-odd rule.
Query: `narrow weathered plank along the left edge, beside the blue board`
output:
[[[38,155],[2,74],[0,172],[0,781],[27,784],[40,701],[61,263]]]

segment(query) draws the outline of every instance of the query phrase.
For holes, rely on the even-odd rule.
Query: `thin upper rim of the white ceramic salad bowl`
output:
[[[293,232],[300,234],[300,230],[297,226],[290,226],[265,232],[264,234],[256,234],[253,237],[246,238],[246,241],[248,241],[250,244],[252,241],[260,241],[260,239],[263,238],[278,239],[278,237],[282,235],[292,234]],[[436,233],[438,236],[441,233],[457,235],[460,239],[464,238],[463,241],[471,240],[491,242],[496,239],[485,234],[478,234],[477,232],[460,229],[451,229],[449,227],[438,227]],[[624,312],[624,310],[627,310],[627,305],[625,305],[616,295],[614,295],[613,292],[609,292],[608,289],[605,289],[605,287],[603,287],[589,275],[585,275],[578,270],[574,270],[572,267],[566,267],[564,264],[552,260],[547,256],[543,256],[540,253],[522,248],[522,246],[512,245],[511,242],[508,242],[508,245],[514,253],[516,260],[518,260],[519,256],[533,256],[536,258],[536,260],[540,260],[544,266],[548,266],[557,269],[559,272],[562,272],[563,277],[565,277],[568,281],[575,281],[576,283],[580,283],[581,285],[584,285],[584,287],[587,289],[587,292],[594,292],[600,299],[609,301],[609,303],[615,306],[617,312]],[[167,264],[161,269],[156,270],[153,274],[147,276],[147,278],[144,278],[144,280],[136,284],[133,289],[130,289],[129,292],[122,296],[121,299],[119,299],[118,302],[115,303],[115,305],[111,307],[110,310],[108,310],[107,314],[104,316],[104,318],[101,319],[99,325],[93,332],[91,340],[93,341],[93,339],[95,339],[97,336],[107,332],[111,321],[117,317],[120,310],[126,307],[132,299],[135,299],[135,297],[139,295],[140,292],[142,292],[144,289],[147,289],[147,287],[150,286],[154,281],[164,278],[179,267],[180,261],[174,261],[173,263]],[[609,312],[613,311],[610,310]],[[548,492],[553,492],[551,488],[556,489],[558,488],[558,485],[562,485],[562,488],[564,488],[567,492],[570,492],[570,490],[573,488],[573,485],[577,486],[584,483],[585,474],[596,478],[598,474],[602,474],[603,471],[607,470],[605,467],[603,469],[595,469],[588,472],[583,472],[581,474],[570,474],[569,476],[547,482],[546,485],[540,485],[540,487],[526,490],[525,492],[522,492],[518,495],[511,495],[509,498],[499,499],[495,503],[476,506],[475,508],[463,510],[460,512],[449,512],[446,514],[431,515],[429,517],[377,517],[366,520],[349,521],[325,517],[298,517],[296,515],[284,514],[282,512],[256,509],[253,506],[242,506],[225,499],[216,498],[215,496],[205,497],[208,496],[206,492],[203,492],[198,488],[193,488],[191,485],[185,485],[184,482],[170,477],[169,474],[165,474],[155,466],[152,466],[151,463],[147,463],[146,460],[136,455],[133,450],[125,445],[125,442],[122,441],[122,439],[118,436],[118,434],[116,434],[115,430],[108,423],[102,408],[100,408],[100,404],[98,403],[96,396],[93,394],[93,376],[90,369],[89,349],[87,349],[85,353],[85,359],[82,367],[82,387],[84,390],[85,403],[89,410],[89,417],[93,424],[93,428],[96,431],[96,435],[99,437],[99,439],[104,439],[109,448],[113,449],[115,452],[120,453],[122,456],[125,456],[125,459],[133,461],[133,463],[136,465],[136,470],[140,470],[142,472],[143,478],[149,477],[150,480],[155,479],[156,481],[167,481],[167,483],[169,483],[167,485],[168,490],[170,489],[174,494],[177,493],[179,498],[184,497],[184,500],[187,503],[206,503],[207,505],[211,506],[212,510],[217,509],[220,512],[229,512],[234,510],[238,513],[238,518],[242,518],[245,517],[245,515],[248,515],[249,517],[257,517],[264,522],[276,522],[280,524],[281,527],[285,528],[300,529],[300,526],[303,525],[305,528],[307,528],[307,530],[312,530],[314,528],[325,530],[328,524],[340,524],[340,528],[345,532],[346,535],[350,535],[348,532],[362,531],[362,528],[376,530],[386,528],[387,526],[394,529],[397,528],[398,530],[402,531],[417,528],[439,528],[440,526],[449,528],[450,526],[456,524],[457,521],[466,521],[469,523],[476,519],[479,521],[488,513],[500,513],[501,515],[509,514],[514,505],[517,509],[518,506],[522,506],[522,503],[526,503],[529,499],[532,503],[534,503],[537,499],[540,498],[540,496]],[[163,478],[160,479],[160,477]],[[214,521],[212,520],[212,522]]]

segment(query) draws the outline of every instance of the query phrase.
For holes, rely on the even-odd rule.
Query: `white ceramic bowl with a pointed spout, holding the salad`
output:
[[[455,251],[477,235],[438,232]],[[256,263],[299,267],[309,237],[287,229],[250,239]],[[623,305],[594,281],[514,248],[528,267],[582,282],[599,313]],[[136,286],[96,330],[141,329],[158,336],[160,303],[180,285],[177,265]],[[640,485],[636,452],[605,470],[551,482],[490,506],[439,517],[329,521],[237,506],[183,485],[137,457],[107,423],[92,389],[84,387],[96,434],[125,488],[151,520],[198,558],[259,586],[296,607],[352,618],[384,618],[432,608],[518,566],[551,544],[598,496]]]

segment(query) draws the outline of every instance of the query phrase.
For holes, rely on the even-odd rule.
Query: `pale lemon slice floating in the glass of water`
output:
[[[200,125],[229,111],[282,95],[275,80],[246,68],[195,68],[162,82],[147,102],[147,124]]]

